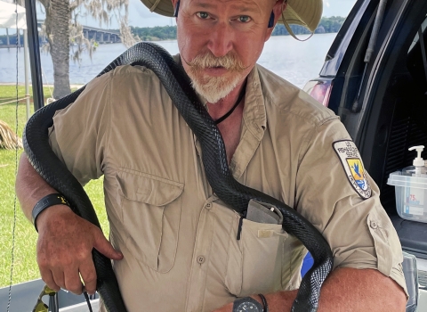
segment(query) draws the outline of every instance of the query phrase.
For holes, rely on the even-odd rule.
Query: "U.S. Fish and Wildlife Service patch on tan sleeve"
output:
[[[371,197],[371,185],[369,185],[369,181],[367,181],[365,168],[363,168],[363,162],[360,159],[356,144],[350,140],[342,140],[336,141],[332,145],[334,151],[341,160],[342,167],[349,178],[350,185],[359,193],[361,198],[366,200]]]

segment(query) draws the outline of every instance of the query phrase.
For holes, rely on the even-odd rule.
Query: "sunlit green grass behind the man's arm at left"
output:
[[[0,103],[2,98],[9,96],[9,89],[13,92],[15,86],[0,86]],[[18,134],[21,136],[26,122],[26,108],[25,103],[20,103],[18,106]],[[14,103],[0,105],[0,119],[12,129],[15,129],[16,124],[15,107]],[[0,287],[8,286],[11,282],[12,250],[12,283],[40,278],[36,264],[36,230],[24,217],[19,201],[16,201],[15,205],[16,154],[19,159],[22,152],[22,150],[16,153],[0,149]],[[85,186],[85,190],[97,211],[104,233],[108,236],[109,226],[104,209],[102,180],[92,181]],[[13,224],[15,224],[14,237]]]

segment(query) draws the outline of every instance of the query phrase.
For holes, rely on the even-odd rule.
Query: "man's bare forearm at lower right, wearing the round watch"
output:
[[[266,295],[270,312],[290,311],[297,291]],[[254,296],[255,299],[256,296]],[[375,269],[340,268],[328,276],[320,292],[318,312],[405,311],[402,288]]]

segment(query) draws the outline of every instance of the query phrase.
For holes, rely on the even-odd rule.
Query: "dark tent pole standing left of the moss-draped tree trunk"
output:
[[[33,86],[34,111],[44,106],[42,66],[40,62],[40,47],[38,45],[38,28],[36,17],[36,1],[25,0],[29,60],[31,64],[31,84]]]

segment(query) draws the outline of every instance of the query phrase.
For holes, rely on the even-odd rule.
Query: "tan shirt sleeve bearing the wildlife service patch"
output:
[[[378,186],[366,171],[370,196],[352,185],[352,160],[340,159],[334,150],[339,141],[351,142],[339,119],[319,123],[306,138],[296,180],[296,208],[326,238],[334,268],[375,268],[407,292],[399,236],[380,202]],[[357,171],[362,173],[363,162],[359,164]]]

